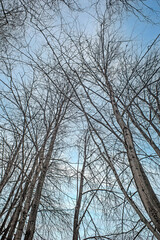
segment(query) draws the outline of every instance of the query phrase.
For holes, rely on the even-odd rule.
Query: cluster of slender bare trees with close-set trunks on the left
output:
[[[64,97],[35,72],[27,83],[26,76],[18,82],[12,71],[8,70],[5,80],[1,80],[0,232],[1,239],[21,239],[24,233],[25,239],[32,239],[39,208],[51,213],[57,208],[60,216],[63,212],[58,202],[60,191],[54,198],[55,205],[49,191],[55,191],[65,177],[64,164],[56,159],[60,156],[62,133],[64,137],[66,132],[65,118],[72,92],[66,89],[68,98]],[[42,193],[46,177],[53,181],[55,175],[54,185],[50,183]]]

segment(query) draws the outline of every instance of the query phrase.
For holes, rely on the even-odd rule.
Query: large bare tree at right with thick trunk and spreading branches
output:
[[[78,62],[73,60],[74,63],[70,65],[66,62],[72,71],[68,75],[68,82],[77,96],[77,107],[84,113],[92,140],[112,169],[115,181],[124,194],[123,207],[127,201],[137,214],[133,228],[121,232],[126,237],[127,234],[133,234],[132,237],[136,238],[147,227],[152,236],[160,239],[160,203],[157,183],[153,179],[159,156],[159,53],[154,51],[158,38],[141,57],[133,53],[130,57],[130,53],[127,56],[123,40],[115,32],[111,34],[108,25],[103,23],[97,40],[80,37],[76,41],[70,38]],[[63,60],[66,59],[65,53]],[[70,57],[70,63],[72,59]],[[66,74],[64,67],[61,67]],[[79,83],[78,90],[73,82]],[[108,142],[107,138],[111,140]],[[149,163],[153,164],[150,174]],[[122,214],[122,229],[126,228],[126,209]],[[102,239],[102,236],[99,237]]]

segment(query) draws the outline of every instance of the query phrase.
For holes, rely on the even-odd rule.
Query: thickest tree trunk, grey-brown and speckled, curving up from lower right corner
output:
[[[136,154],[136,150],[134,147],[132,134],[130,130],[128,129],[127,125],[125,124],[119,110],[117,103],[115,101],[114,91],[112,88],[112,85],[110,84],[107,77],[106,79],[106,85],[108,87],[109,93],[110,93],[110,99],[111,104],[113,108],[113,112],[115,114],[115,117],[117,119],[117,122],[119,126],[121,127],[123,131],[123,136],[125,140],[125,147],[127,150],[127,155],[129,159],[129,164],[132,170],[133,178],[135,181],[135,184],[137,186],[137,191],[139,193],[139,196],[143,202],[143,205],[151,218],[152,222],[154,223],[157,230],[160,232],[160,202],[154,193],[152,186],[144,172],[144,169],[138,159],[138,156]]]

